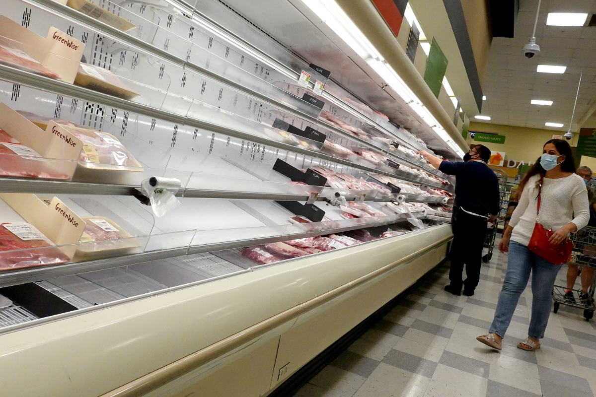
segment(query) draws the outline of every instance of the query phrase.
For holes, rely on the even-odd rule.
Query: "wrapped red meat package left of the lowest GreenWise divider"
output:
[[[48,237],[29,223],[0,224],[0,270],[58,265],[70,261]]]

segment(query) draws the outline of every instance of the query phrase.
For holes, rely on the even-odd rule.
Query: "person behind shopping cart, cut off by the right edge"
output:
[[[592,179],[592,170],[585,165],[578,168],[577,174],[583,178],[583,182],[585,182],[586,185],[590,182],[590,179]],[[596,227],[596,189],[591,186],[588,186],[588,203],[590,211],[588,226]],[[596,249],[594,249],[593,245],[594,241],[591,239],[591,236],[586,237],[590,240],[586,241],[588,245],[583,248],[582,254],[588,255],[589,257],[596,257]],[[569,263],[567,266],[569,268],[567,268],[567,290],[565,292],[565,299],[575,302],[573,286],[575,285],[575,280],[578,279],[578,265]],[[579,295],[579,300],[582,304],[588,303],[588,288],[592,283],[593,276],[594,268],[588,266],[582,267],[582,293]]]

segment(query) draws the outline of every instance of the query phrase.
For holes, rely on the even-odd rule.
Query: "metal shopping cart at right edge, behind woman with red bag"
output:
[[[570,238],[573,240],[575,248],[573,248],[569,263],[578,265],[578,268],[580,269],[596,267],[596,229],[593,227],[584,227],[577,233],[572,233]],[[596,272],[594,272],[594,276],[592,276],[592,283],[588,288],[587,299],[579,299],[579,295],[582,293],[581,289],[574,290],[578,296],[578,298],[575,299],[575,302],[565,296],[567,286],[555,285],[552,287],[552,300],[554,301],[553,311],[556,313],[560,305],[583,309],[583,317],[586,318],[586,321],[589,321],[590,318],[594,317],[594,310],[596,310],[596,306],[594,305],[595,284]]]

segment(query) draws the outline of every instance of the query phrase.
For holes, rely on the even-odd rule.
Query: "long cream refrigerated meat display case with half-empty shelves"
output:
[[[0,1],[10,395],[265,394],[445,258],[452,180],[341,68],[214,0]]]

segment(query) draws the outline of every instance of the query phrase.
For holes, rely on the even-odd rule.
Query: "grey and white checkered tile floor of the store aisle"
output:
[[[516,347],[527,336],[530,286],[502,352],[475,340],[488,332],[506,268],[507,257],[496,252],[470,298],[445,292],[449,267],[440,268],[294,397],[593,396],[596,321],[582,311],[561,306],[541,349]],[[566,273],[563,266],[557,283]]]

